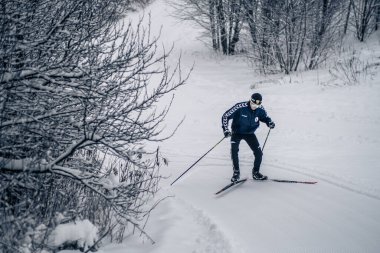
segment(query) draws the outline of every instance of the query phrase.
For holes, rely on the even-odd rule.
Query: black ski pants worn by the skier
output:
[[[245,140],[248,146],[253,151],[255,161],[253,163],[252,171],[260,170],[261,161],[263,159],[263,152],[261,151],[259,141],[255,134],[232,134],[231,136],[231,158],[234,172],[240,173],[239,168],[239,145],[240,141]]]

